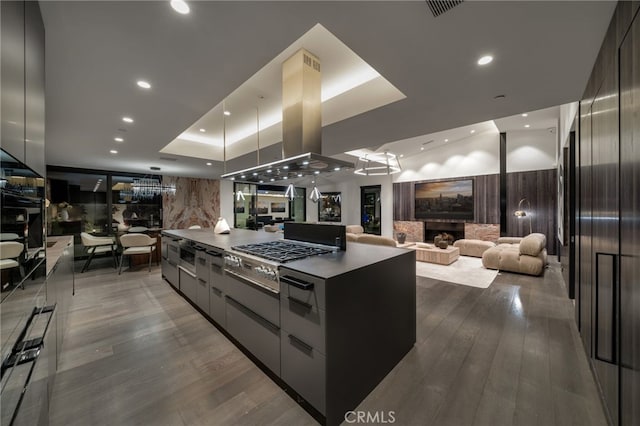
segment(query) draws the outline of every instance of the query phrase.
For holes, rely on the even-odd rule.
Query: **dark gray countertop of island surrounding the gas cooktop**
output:
[[[214,234],[212,229],[176,229],[162,231],[163,235],[184,238],[199,244],[231,251],[231,247],[240,244],[259,243],[282,239],[282,233],[232,229],[229,234]],[[342,275],[373,263],[382,262],[397,256],[413,256],[414,250],[347,242],[347,250],[282,264],[289,269],[314,275],[318,278],[331,278]],[[415,260],[414,260],[415,261]]]

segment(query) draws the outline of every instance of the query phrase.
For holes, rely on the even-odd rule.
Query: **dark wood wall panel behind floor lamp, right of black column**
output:
[[[556,253],[557,223],[557,170],[535,170],[530,172],[507,173],[507,235],[522,237],[529,233],[529,223],[533,232],[547,237],[547,253]],[[518,218],[520,200],[526,198],[531,203],[523,203],[523,210],[529,216]]]

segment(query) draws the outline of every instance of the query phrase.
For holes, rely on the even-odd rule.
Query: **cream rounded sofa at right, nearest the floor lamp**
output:
[[[547,238],[533,233],[524,238],[498,239],[498,244],[484,251],[482,265],[488,269],[527,275],[542,275],[547,265]]]

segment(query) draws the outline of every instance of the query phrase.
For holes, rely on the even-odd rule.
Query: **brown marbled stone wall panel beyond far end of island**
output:
[[[176,185],[175,195],[162,196],[164,229],[213,229],[220,216],[219,180],[164,176],[162,183]]]

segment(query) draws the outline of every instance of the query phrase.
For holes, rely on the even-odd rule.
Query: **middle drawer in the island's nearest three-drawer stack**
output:
[[[301,302],[291,296],[280,300],[281,327],[287,333],[299,337],[316,348],[320,353],[325,352],[326,314],[322,309]]]

